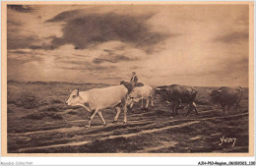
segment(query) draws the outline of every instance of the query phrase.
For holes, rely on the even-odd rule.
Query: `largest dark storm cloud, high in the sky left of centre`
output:
[[[85,49],[111,40],[145,48],[153,47],[170,36],[151,31],[147,20],[152,16],[152,14],[147,16],[125,16],[115,13],[86,14],[85,10],[73,10],[63,12],[46,23],[66,23],[62,28],[63,36],[53,38],[52,48],[73,44],[76,49]]]

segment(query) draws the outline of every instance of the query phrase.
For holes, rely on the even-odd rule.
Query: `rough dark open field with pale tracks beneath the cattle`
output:
[[[207,90],[196,87],[199,117],[185,118],[186,110],[169,118],[167,103],[155,96],[155,107],[128,110],[128,123],[112,124],[115,110],[102,111],[107,125],[96,116],[86,129],[90,113],[64,104],[70,89],[87,90],[107,84],[8,82],[7,127],[9,153],[194,153],[248,152],[248,88],[243,88],[241,111],[224,116],[210,102]],[[185,108],[186,109],[186,108]],[[235,144],[221,138],[236,138]]]

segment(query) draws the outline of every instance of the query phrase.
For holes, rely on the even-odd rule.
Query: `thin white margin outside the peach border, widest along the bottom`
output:
[[[12,0],[5,0],[5,1],[12,1]],[[30,1],[30,0],[23,0],[23,1]],[[33,1],[40,1],[40,0],[33,0]],[[44,1],[50,1],[50,0],[44,0]],[[64,1],[69,1],[69,0],[64,0]],[[76,1],[81,1],[81,0],[76,0]],[[92,1],[92,0],[88,0],[88,1]],[[95,0],[95,1],[101,1],[101,0]],[[115,0],[115,1],[123,1],[123,0]],[[136,0],[130,0],[130,1],[136,1]],[[147,0],[140,0],[140,1],[147,1]],[[179,0],[172,0],[172,1],[179,1]],[[186,1],[193,1],[193,0],[186,0]],[[205,1],[205,0],[197,0],[197,1]],[[224,0],[215,0],[215,1],[224,1]],[[225,1],[228,2],[233,0],[225,0]],[[237,1],[237,0],[234,0],[234,1]],[[240,0],[240,1],[246,1],[246,0]],[[254,2],[254,11],[256,9],[255,5],[256,4]],[[0,8],[0,15],[1,15],[1,8]],[[256,14],[254,13],[254,27],[255,27],[255,21],[256,21],[255,18],[256,18]],[[0,22],[0,25],[1,25],[1,22]],[[254,48],[255,48],[255,33],[254,33]],[[255,55],[255,52],[254,52],[254,55]],[[254,59],[254,64],[255,63],[256,63],[256,58]],[[1,58],[0,58],[0,64],[1,64]],[[254,83],[256,81],[255,78],[256,77],[255,77],[255,69],[254,69]],[[0,80],[1,80],[1,77],[0,77]],[[254,89],[254,103],[256,103],[255,93],[256,93],[256,89]],[[1,95],[0,95],[0,103],[1,103]],[[254,114],[254,120],[255,120],[255,117],[256,115]],[[0,118],[0,129],[1,129],[1,118]],[[254,138],[255,138],[255,133],[256,133],[256,130],[254,128]],[[0,142],[1,142],[1,134],[0,134]],[[0,143],[0,148],[1,148],[1,143]],[[254,143],[254,154],[256,154],[255,143]],[[7,165],[31,165],[30,163],[32,163],[32,165],[94,165],[94,166],[96,165],[112,165],[112,166],[114,165],[198,165],[200,161],[206,161],[206,162],[217,161],[219,163],[220,162],[228,163],[229,161],[246,161],[248,163],[250,161],[255,161],[255,156],[254,157],[226,157],[226,156],[224,157],[214,157],[214,156],[213,157],[2,157],[1,150],[0,150],[0,162],[2,163],[0,165],[3,165],[3,163],[9,163]]]

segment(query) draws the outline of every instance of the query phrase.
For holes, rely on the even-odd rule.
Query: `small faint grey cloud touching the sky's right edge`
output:
[[[248,41],[249,33],[243,31],[230,32],[219,37],[216,37],[214,41],[224,42],[224,43],[233,43],[238,41]]]

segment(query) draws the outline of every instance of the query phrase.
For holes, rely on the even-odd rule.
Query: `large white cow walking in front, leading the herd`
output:
[[[105,125],[104,118],[101,111],[105,108],[115,108],[116,116],[113,122],[117,122],[118,116],[121,112],[121,105],[124,110],[124,124],[127,122],[127,88],[124,85],[114,85],[104,88],[93,88],[87,91],[79,91],[75,89],[71,92],[67,105],[70,106],[82,106],[86,108],[91,113],[88,128],[90,128],[91,123],[96,116],[96,114],[101,119],[103,125]]]

